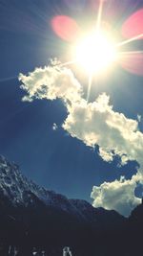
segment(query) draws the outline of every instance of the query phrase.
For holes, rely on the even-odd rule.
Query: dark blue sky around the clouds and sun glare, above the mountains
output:
[[[118,168],[117,159],[112,164],[104,162],[97,151],[60,127],[67,116],[60,101],[21,102],[24,92],[17,79],[19,73],[26,74],[47,65],[49,58],[63,56],[68,44],[51,31],[51,17],[67,14],[80,21],[87,10],[92,13],[89,2],[78,1],[78,6],[72,6],[62,0],[0,0],[0,153],[19,164],[23,174],[36,183],[69,198],[91,200],[92,185],[120,175],[129,178],[136,173],[136,163]],[[142,1],[136,5],[127,2],[130,5],[124,15],[116,16],[116,29],[130,12],[143,6]],[[106,91],[114,110],[133,119],[143,114],[142,77],[116,67],[106,81],[94,81],[93,85],[91,100]],[[52,129],[53,123],[57,130]],[[140,128],[143,130],[142,122]]]

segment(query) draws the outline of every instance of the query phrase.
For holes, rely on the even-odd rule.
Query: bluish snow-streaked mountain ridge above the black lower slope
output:
[[[40,198],[46,205],[52,205],[55,208],[61,208],[64,211],[71,211],[72,213],[76,211],[76,213],[78,213],[79,204],[80,208],[89,207],[92,210],[96,209],[95,211],[102,209],[101,207],[98,208],[98,210],[97,208],[93,208],[92,204],[84,199],[69,199],[61,194],[57,194],[54,191],[37,185],[25,175],[21,174],[18,165],[11,163],[2,155],[0,155],[0,191],[3,191],[4,195],[10,198],[13,204],[25,203],[23,192],[31,191],[31,193],[37,198]],[[115,213],[115,211],[113,212]]]

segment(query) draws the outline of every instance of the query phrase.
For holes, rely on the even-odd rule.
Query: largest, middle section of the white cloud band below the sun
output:
[[[89,104],[81,99],[71,106],[63,128],[87,146],[98,145],[105,161],[117,154],[122,164],[134,159],[142,164],[143,134],[137,121],[113,111],[109,100],[106,94]]]

